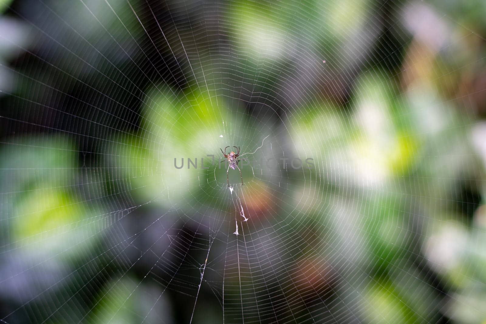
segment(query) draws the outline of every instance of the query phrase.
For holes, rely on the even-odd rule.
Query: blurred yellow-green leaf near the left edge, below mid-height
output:
[[[86,255],[100,231],[99,212],[63,189],[39,188],[16,203],[12,239],[35,257]]]

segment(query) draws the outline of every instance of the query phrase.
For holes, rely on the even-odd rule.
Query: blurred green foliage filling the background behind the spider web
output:
[[[161,219],[173,207],[184,225],[208,214],[209,224],[215,223],[221,211],[238,215],[240,207],[243,213],[241,202],[227,203],[228,192],[221,190],[226,172],[210,165],[207,154],[214,154],[217,163],[220,148],[239,145],[247,153],[271,134],[268,141],[274,148],[263,147],[256,160],[285,152],[301,160],[313,158],[315,169],[243,168],[244,208],[259,221],[246,233],[253,236],[244,241],[245,247],[260,235],[269,238],[265,243],[278,236],[275,262],[290,269],[279,276],[261,267],[260,259],[252,260],[264,268],[259,276],[274,275],[280,288],[279,280],[293,283],[289,280],[297,278],[299,289],[313,290],[317,297],[315,287],[324,282],[332,290],[329,304],[334,299],[347,304],[347,309],[331,305],[333,317],[349,312],[366,323],[486,320],[486,148],[481,146],[486,132],[477,129],[484,123],[486,102],[483,2],[235,1],[218,12],[230,23],[219,26],[217,41],[223,34],[232,35],[224,46],[215,45],[222,54],[208,45],[214,44],[210,28],[200,27],[195,23],[199,18],[188,13],[195,12],[197,3],[188,9],[184,2],[185,14],[180,3],[160,9],[167,14],[175,6],[180,10],[176,14],[187,18],[175,22],[171,14],[174,23],[160,27],[147,8],[140,9],[139,1],[111,2],[109,7],[103,1],[52,2],[50,8],[64,13],[64,21],[42,21],[52,36],[46,36],[45,48],[37,44],[32,51],[44,61],[32,55],[13,64],[12,69],[21,73],[17,88],[5,95],[6,114],[12,114],[7,117],[48,132],[4,133],[8,144],[2,146],[0,157],[0,193],[6,197],[0,206],[2,252],[34,266],[55,260],[68,269],[63,274],[74,273],[69,277],[74,282],[95,279],[98,290],[83,296],[80,306],[90,323],[138,323],[144,320],[140,314],[150,314],[148,322],[170,322],[172,310],[184,313],[179,316],[185,319],[193,299],[175,305],[164,294],[162,310],[151,308],[166,287],[144,279],[157,271],[162,253],[132,269],[141,256],[135,253],[125,260],[126,246],[131,247],[138,235],[152,242],[144,222],[153,215]],[[10,1],[0,1],[0,11],[9,5]],[[132,9],[147,15],[136,16]],[[167,36],[158,33],[162,28]],[[177,28],[182,37],[175,33]],[[206,32],[201,36],[206,41],[194,37],[196,28],[198,36]],[[153,29],[159,36],[155,42],[150,37]],[[74,36],[79,43],[70,43]],[[22,33],[17,38],[19,45],[27,39]],[[391,52],[400,57],[392,62],[398,70],[383,63],[392,53],[376,50],[380,42],[396,48]],[[68,46],[60,45],[65,43]],[[144,51],[147,44],[156,46],[154,57]],[[225,46],[237,54],[228,55]],[[190,57],[186,49],[197,57]],[[0,51],[3,61],[16,57],[18,49]],[[168,56],[176,64],[160,63],[172,62]],[[52,57],[55,65],[49,63]],[[228,57],[230,64],[223,63]],[[171,79],[169,74],[176,75],[177,84],[161,81]],[[289,84],[295,88],[286,87]],[[249,98],[258,97],[257,102],[241,100],[246,90]],[[73,98],[82,104],[69,105]],[[132,109],[132,102],[137,108]],[[99,110],[94,113],[93,107]],[[64,121],[66,116],[69,121]],[[24,128],[22,124],[16,129]],[[91,159],[81,163],[80,153],[86,157],[86,152]],[[178,165],[184,159],[181,170],[175,170],[174,158]],[[197,158],[199,168],[188,168],[188,158]],[[208,169],[200,168],[202,158]],[[238,171],[230,172],[230,181],[238,183]],[[285,185],[291,189],[284,190]],[[134,222],[143,224],[142,229],[126,234],[135,226],[124,213],[148,202],[150,207],[138,210],[146,218]],[[113,212],[123,215],[115,218]],[[199,219],[198,229],[201,224],[206,227],[206,219]],[[173,225],[161,225],[167,230],[164,226]],[[108,236],[122,238],[121,242],[104,241],[109,227],[113,232]],[[214,229],[208,227],[205,235],[214,240]],[[183,268],[183,279],[174,281],[177,288],[194,289],[198,283],[192,280],[202,273],[200,260],[207,257],[207,249],[204,244],[192,246],[196,235],[191,237],[190,230],[180,232],[179,239],[188,248],[195,246],[196,252],[189,257],[190,266],[182,264],[186,255],[174,253],[171,262],[181,261],[177,266]],[[227,239],[229,233],[224,235]],[[228,251],[224,253],[224,265],[214,267],[220,272],[226,271]],[[256,258],[259,253],[255,251]],[[108,256],[100,257],[104,254]],[[305,261],[293,263],[296,260]],[[89,261],[98,263],[92,277],[91,269],[84,268]],[[250,272],[244,262],[228,263]],[[319,271],[313,273],[308,264]],[[168,276],[169,283],[179,271],[162,269],[157,275]],[[196,276],[184,272],[187,269]],[[257,287],[261,282],[242,278],[233,275],[227,293],[241,293],[242,280],[248,290],[265,290]],[[58,286],[68,287],[68,281]],[[201,292],[205,297],[213,296],[214,287],[209,287]],[[292,287],[278,293],[282,300],[295,296]],[[258,302],[268,304],[266,295],[254,294],[250,310]],[[28,305],[28,298],[22,298],[17,303]],[[197,310],[198,321],[218,319],[221,305],[201,299],[208,316]],[[304,312],[306,302],[298,311]],[[240,303],[236,304],[232,307]],[[37,316],[35,310],[32,313]]]

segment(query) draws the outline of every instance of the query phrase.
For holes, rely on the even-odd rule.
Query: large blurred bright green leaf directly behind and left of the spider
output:
[[[245,119],[238,118],[215,92],[152,89],[142,116],[142,130],[132,136],[116,135],[118,144],[112,152],[115,165],[130,178],[132,192],[141,201],[174,204],[194,197],[194,190],[214,179],[222,158],[220,148],[243,147],[248,142],[243,134],[233,134]],[[214,155],[214,162],[208,154]],[[188,168],[188,158],[194,164],[197,159],[197,169]],[[183,168],[176,169],[174,159],[178,168],[184,159]],[[202,169],[201,159],[208,170]],[[225,184],[226,172],[220,170],[219,174],[218,180]]]

